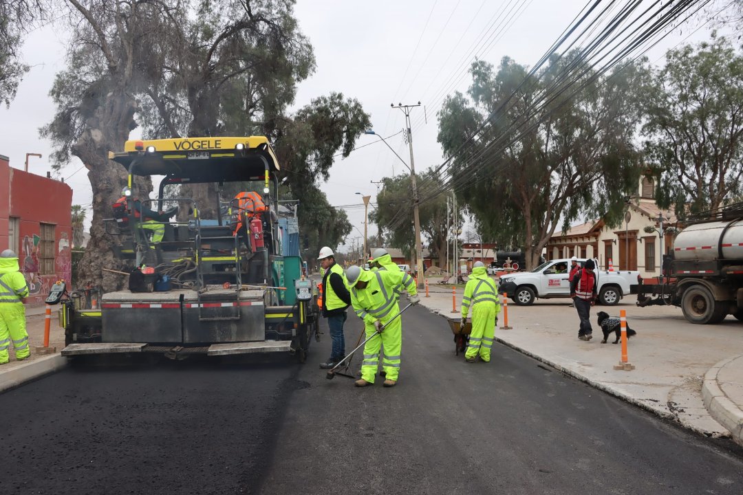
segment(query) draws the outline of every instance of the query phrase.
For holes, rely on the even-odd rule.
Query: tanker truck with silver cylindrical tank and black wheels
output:
[[[695,324],[717,324],[727,315],[743,321],[743,203],[684,219],[661,283],[643,283],[637,306],[681,306]]]

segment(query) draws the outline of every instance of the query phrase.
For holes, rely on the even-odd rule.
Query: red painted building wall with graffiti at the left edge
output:
[[[5,194],[4,194],[5,193]],[[64,279],[71,282],[72,247],[72,189],[65,183],[36,174],[10,168],[7,161],[0,161],[0,198],[8,198],[9,206],[3,209],[0,199],[0,248],[7,249],[8,217],[18,217],[19,246],[10,246],[19,255],[19,265],[26,277],[30,296],[29,306],[44,304],[54,282]],[[40,223],[54,224],[53,275],[41,275]],[[2,226],[4,225],[4,229]]]

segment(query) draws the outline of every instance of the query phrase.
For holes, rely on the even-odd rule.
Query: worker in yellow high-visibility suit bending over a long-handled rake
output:
[[[386,270],[371,272],[354,265],[345,270],[345,278],[351,287],[351,305],[358,317],[364,321],[366,337],[369,338],[381,330],[380,335],[374,335],[374,338],[370,338],[364,346],[361,378],[355,384],[357,387],[366,387],[374,383],[380,347],[384,344],[382,360],[386,378],[384,386],[395,387],[400,374],[400,352],[403,346],[403,324],[400,318],[395,318],[400,312],[395,289],[403,285],[403,274]],[[408,291],[410,304],[421,302],[412,278],[405,289]],[[389,325],[382,330],[383,325],[388,322]]]

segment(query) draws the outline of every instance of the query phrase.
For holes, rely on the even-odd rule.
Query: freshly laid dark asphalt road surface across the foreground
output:
[[[323,324],[325,326],[325,324]],[[349,315],[350,350],[361,330]],[[743,451],[496,345],[403,318],[397,387],[308,363],[81,366],[0,395],[3,494],[735,494]],[[358,369],[357,358],[351,367]]]

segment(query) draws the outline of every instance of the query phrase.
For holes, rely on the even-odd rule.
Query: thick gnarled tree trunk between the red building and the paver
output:
[[[113,216],[111,204],[121,197],[121,189],[126,186],[126,170],[108,160],[108,151],[123,150],[129,131],[136,127],[134,112],[137,102],[128,94],[117,93],[102,99],[103,104],[88,119],[88,128],[73,147],[74,156],[88,168],[88,180],[94,191],[91,238],[82,255],[78,280],[110,292],[120,289],[126,283],[126,277],[103,272],[103,268],[120,269],[124,264],[114,258],[112,246],[116,240],[106,234],[103,219]]]

